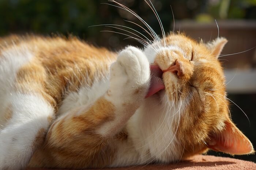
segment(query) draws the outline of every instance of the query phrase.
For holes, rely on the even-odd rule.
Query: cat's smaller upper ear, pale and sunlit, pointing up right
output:
[[[216,38],[215,40],[213,40],[211,42],[208,42],[206,44],[206,47],[208,50],[211,51],[211,55],[218,58],[219,54],[221,54],[221,51],[226,43],[227,43],[227,39],[220,37],[220,38]]]

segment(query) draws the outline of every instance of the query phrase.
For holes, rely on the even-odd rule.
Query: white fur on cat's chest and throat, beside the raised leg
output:
[[[181,105],[159,104],[148,98],[127,123],[128,141],[118,144],[112,166],[144,165],[153,161],[180,160],[182,149],[176,139]]]

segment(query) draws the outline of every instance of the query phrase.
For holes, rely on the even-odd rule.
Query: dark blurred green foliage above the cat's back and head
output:
[[[229,7],[226,7],[226,2]],[[118,0],[143,18],[152,28],[161,33],[158,20],[151,8],[143,0]],[[127,44],[139,45],[135,40],[111,32],[114,28],[98,24],[118,24],[135,28],[129,20],[141,24],[135,16],[108,0],[0,0],[0,35],[10,33],[51,35],[78,35],[82,39],[98,46],[113,49]],[[162,20],[165,32],[169,32],[173,23],[172,5],[175,20],[194,19],[199,22],[212,22],[214,19],[256,19],[256,0],[152,0]],[[222,9],[222,10],[221,10]],[[119,30],[120,31],[120,30]]]

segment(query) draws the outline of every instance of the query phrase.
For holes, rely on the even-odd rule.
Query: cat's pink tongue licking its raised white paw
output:
[[[152,96],[159,90],[165,89],[162,80],[162,70],[157,65],[150,65],[150,71],[150,87],[145,98]]]

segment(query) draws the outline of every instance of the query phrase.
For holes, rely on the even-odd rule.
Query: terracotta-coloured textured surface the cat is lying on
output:
[[[187,161],[169,165],[147,165],[122,168],[107,168],[101,170],[256,170],[256,163],[233,158],[215,157],[210,155],[196,155]],[[27,170],[49,170],[28,168]],[[56,169],[55,169],[56,170]]]

